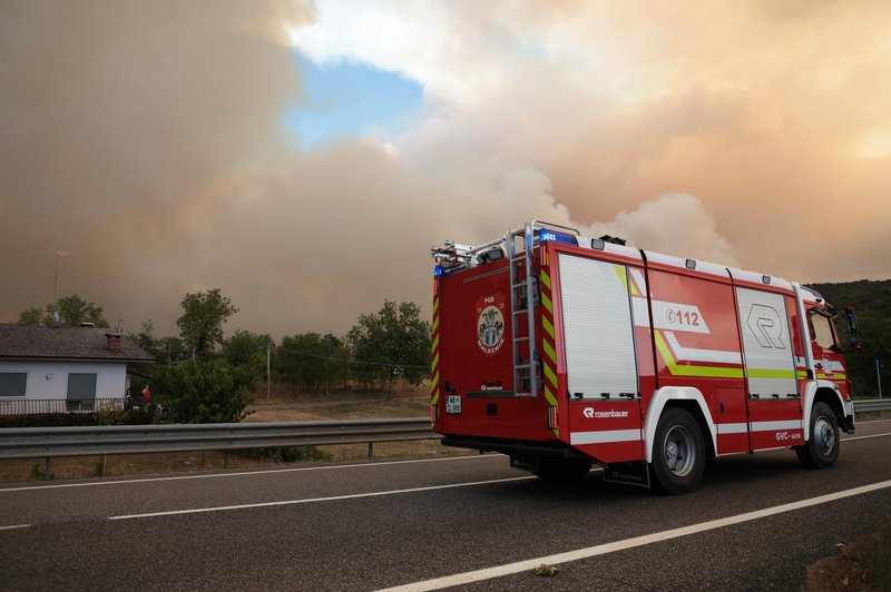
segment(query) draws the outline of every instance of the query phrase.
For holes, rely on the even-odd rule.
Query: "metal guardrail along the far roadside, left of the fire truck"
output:
[[[427,417],[340,422],[8,427],[0,458],[317,446],[439,438]]]

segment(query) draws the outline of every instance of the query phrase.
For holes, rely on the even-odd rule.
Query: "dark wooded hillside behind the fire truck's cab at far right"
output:
[[[879,359],[882,363],[882,395],[891,397],[891,279],[806,286],[817,290],[833,306],[853,306],[856,310],[863,346],[845,355],[854,393],[859,396],[878,396],[875,361]],[[840,330],[844,328],[840,327]],[[846,336],[842,339],[842,344],[846,345]]]

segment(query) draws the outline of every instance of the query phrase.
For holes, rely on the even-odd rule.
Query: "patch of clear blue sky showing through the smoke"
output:
[[[392,136],[423,107],[421,87],[394,72],[341,60],[320,66],[295,52],[304,103],[285,114],[285,130],[307,148],[336,136],[363,137],[371,128]]]

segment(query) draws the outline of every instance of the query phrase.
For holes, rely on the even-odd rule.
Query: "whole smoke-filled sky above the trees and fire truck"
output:
[[[891,2],[0,0],[0,322],[429,315],[429,248],[546,219],[891,277]],[[70,253],[56,260],[55,253]]]

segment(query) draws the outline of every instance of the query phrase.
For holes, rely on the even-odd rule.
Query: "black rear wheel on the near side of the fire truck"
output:
[[[678,495],[694,491],[705,470],[705,441],[699,424],[681,407],[662,414],[653,442],[654,485]]]

